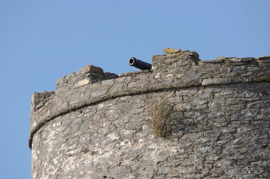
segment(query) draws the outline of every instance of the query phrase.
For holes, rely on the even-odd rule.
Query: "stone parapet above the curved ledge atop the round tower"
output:
[[[165,49],[152,57],[152,70],[118,75],[87,65],[56,81],[55,92],[34,93],[29,147],[35,132],[70,111],[121,96],[192,86],[270,81],[270,56],[219,57],[202,61],[196,52]]]

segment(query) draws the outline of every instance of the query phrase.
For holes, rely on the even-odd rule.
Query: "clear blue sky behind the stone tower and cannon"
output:
[[[270,55],[270,1],[0,0],[0,178],[30,178],[33,92],[93,64],[136,71],[164,48],[201,59]]]

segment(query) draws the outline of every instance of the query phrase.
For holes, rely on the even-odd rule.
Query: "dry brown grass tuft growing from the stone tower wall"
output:
[[[159,138],[165,137],[169,131],[169,116],[172,111],[172,107],[168,105],[167,100],[162,98],[159,101],[148,101],[148,111],[150,119],[148,121],[149,127],[153,133]]]

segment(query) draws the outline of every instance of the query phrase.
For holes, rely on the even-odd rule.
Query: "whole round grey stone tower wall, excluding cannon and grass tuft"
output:
[[[167,49],[152,70],[89,65],[34,93],[32,178],[270,178],[270,56],[201,61]],[[173,107],[151,131],[149,101]]]

